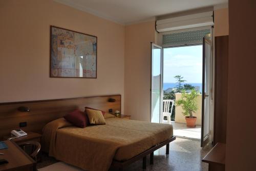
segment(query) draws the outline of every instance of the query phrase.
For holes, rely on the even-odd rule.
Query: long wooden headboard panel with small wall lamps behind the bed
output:
[[[115,102],[108,102],[113,98]],[[18,107],[30,108],[30,112],[20,112]],[[27,102],[0,103],[0,140],[10,135],[11,130],[19,129],[19,123],[27,122],[22,129],[40,133],[42,128],[52,120],[60,118],[69,112],[84,107],[92,107],[108,112],[109,109],[121,111],[121,95],[103,95],[78,97],[72,99],[55,99]]]

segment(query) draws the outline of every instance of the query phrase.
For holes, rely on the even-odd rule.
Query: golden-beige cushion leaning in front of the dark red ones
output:
[[[106,121],[100,110],[86,109],[90,124],[104,125]]]

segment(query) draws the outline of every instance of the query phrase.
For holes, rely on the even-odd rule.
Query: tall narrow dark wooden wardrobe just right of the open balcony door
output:
[[[215,112],[214,145],[226,143],[228,36],[215,37]],[[238,103],[239,105],[239,103]]]

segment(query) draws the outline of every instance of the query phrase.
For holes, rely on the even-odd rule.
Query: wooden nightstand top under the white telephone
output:
[[[11,141],[16,142],[17,144],[22,143],[22,142],[26,142],[26,141],[36,141],[39,142],[41,141],[41,134],[35,133],[35,132],[27,132],[28,135],[23,136],[23,137],[19,137],[19,138],[14,138]],[[5,136],[4,140],[7,140],[8,138],[10,138],[11,136]]]

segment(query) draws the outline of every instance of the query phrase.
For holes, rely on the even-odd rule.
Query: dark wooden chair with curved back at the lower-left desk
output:
[[[36,141],[27,141],[18,144],[32,159],[37,162],[37,155],[40,152],[41,144]],[[36,166],[33,170],[37,170]]]

